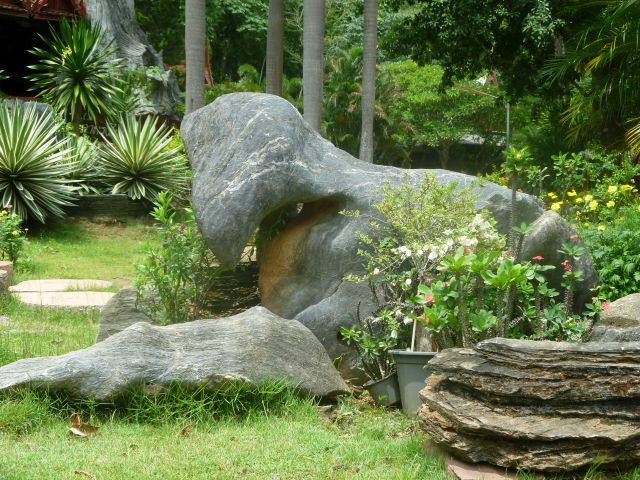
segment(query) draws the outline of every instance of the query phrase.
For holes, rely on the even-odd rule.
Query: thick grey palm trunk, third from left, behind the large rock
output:
[[[304,0],[302,80],[304,119],[320,131],[324,82],[325,0]]]

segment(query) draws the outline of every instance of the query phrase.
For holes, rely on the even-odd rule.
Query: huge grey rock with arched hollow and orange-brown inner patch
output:
[[[209,246],[226,265],[239,261],[247,240],[262,227],[259,287],[262,304],[313,331],[331,357],[345,349],[336,333],[355,320],[356,309],[372,309],[365,285],[346,282],[361,270],[357,230],[362,217],[375,215],[371,205],[380,187],[404,179],[421,183],[425,170],[402,170],[361,162],[339,150],[304,122],[287,101],[264,94],[232,94],[188,115],[182,138],[193,167],[193,203]],[[505,233],[511,192],[475,177],[430,170],[441,182],[471,186],[478,209],[489,209]],[[525,257],[554,257],[573,234],[555,214],[544,215],[540,201],[524,194],[516,200],[518,224],[534,224]],[[360,219],[343,209],[359,210]],[[284,225],[282,225],[284,223]],[[277,228],[275,228],[277,227]],[[591,259],[579,265],[586,280],[578,301],[596,283]]]

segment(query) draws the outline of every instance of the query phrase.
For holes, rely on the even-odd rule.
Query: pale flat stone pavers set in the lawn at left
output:
[[[23,303],[47,307],[102,307],[113,292],[94,292],[92,289],[109,288],[105,280],[27,280],[9,287]]]

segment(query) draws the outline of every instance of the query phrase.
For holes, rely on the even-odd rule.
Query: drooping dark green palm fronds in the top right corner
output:
[[[595,2],[594,2],[595,3]],[[600,138],[608,144],[626,141],[640,151],[637,108],[640,87],[640,2],[614,0],[603,7],[549,60],[544,74],[556,85],[571,82],[571,103],[565,112],[570,139]],[[579,7],[588,15],[590,2]]]

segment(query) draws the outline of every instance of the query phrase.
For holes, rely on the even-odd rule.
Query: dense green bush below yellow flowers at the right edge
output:
[[[582,225],[582,224],[581,224]],[[637,205],[612,212],[606,228],[579,227],[600,277],[600,295],[616,300],[640,291],[640,211]]]

